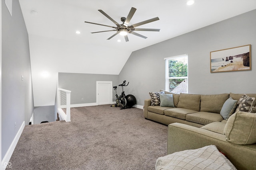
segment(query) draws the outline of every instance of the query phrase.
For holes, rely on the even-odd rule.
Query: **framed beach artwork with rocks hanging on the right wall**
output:
[[[251,70],[251,45],[210,52],[211,72]]]

